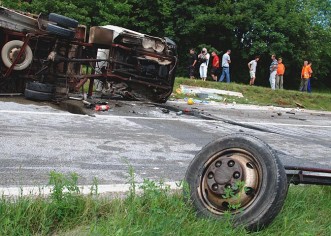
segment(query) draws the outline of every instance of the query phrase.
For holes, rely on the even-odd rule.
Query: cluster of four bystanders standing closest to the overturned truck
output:
[[[222,56],[222,61],[220,64],[220,59],[215,51],[212,51],[210,56],[207,49],[203,48],[201,50],[201,53],[197,55],[193,48],[190,49],[190,58],[189,58],[189,67],[188,67],[190,78],[191,79],[195,78],[195,71],[197,66],[199,66],[200,78],[203,81],[206,81],[209,60],[210,57],[212,57],[213,61],[212,61],[212,68],[210,74],[213,80],[222,82],[224,78],[226,78],[226,82],[230,83],[230,63],[231,63],[230,54],[231,54],[231,50],[227,50],[227,52],[224,53],[224,55]],[[219,77],[220,66],[222,67],[222,74]]]

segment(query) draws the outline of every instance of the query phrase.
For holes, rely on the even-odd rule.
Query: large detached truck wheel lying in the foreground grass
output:
[[[184,189],[198,215],[233,220],[249,231],[267,226],[287,195],[285,169],[269,145],[233,134],[205,146],[190,163]],[[230,213],[230,214],[228,214]]]

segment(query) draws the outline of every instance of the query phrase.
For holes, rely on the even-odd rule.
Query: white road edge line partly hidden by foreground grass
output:
[[[135,185],[136,192],[142,192],[140,188],[143,184],[137,183]],[[80,193],[84,195],[91,194],[91,185],[79,185]],[[98,194],[120,194],[127,193],[130,191],[130,184],[109,184],[109,185],[98,185]],[[161,188],[170,188],[171,190],[182,189],[182,184],[178,182],[164,182]],[[94,193],[95,191],[92,191]],[[41,186],[41,187],[1,187],[0,195],[3,197],[23,197],[23,196],[48,196],[52,193],[51,186]]]

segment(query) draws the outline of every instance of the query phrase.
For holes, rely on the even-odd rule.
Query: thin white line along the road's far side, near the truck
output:
[[[79,116],[79,117],[91,117],[72,113],[52,113],[52,112],[34,112],[34,111],[10,111],[0,110],[0,113],[12,113],[12,114],[31,114],[31,115],[52,115],[52,116]],[[113,116],[113,115],[98,115],[92,118],[102,119],[128,119],[128,120],[164,120],[164,121],[185,121],[185,122],[204,122],[204,123],[218,123],[223,121],[217,120],[204,120],[204,119],[187,119],[187,118],[176,118],[176,117],[139,117],[139,116]],[[308,124],[287,124],[287,123],[273,123],[273,122],[242,122],[237,121],[239,124],[250,124],[250,125],[272,125],[272,126],[292,126],[292,127],[309,127],[309,128],[331,128],[331,125],[308,125]]]

